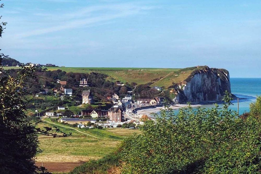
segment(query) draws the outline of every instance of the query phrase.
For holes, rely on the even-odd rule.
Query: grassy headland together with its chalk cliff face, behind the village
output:
[[[19,67],[4,67],[6,69]],[[221,101],[225,91],[231,92],[229,72],[225,69],[209,68],[207,66],[177,68],[76,68],[76,67],[45,67],[54,72],[62,70],[64,74],[101,73],[104,80],[110,82],[137,83],[150,87],[163,87],[164,91],[149,91],[135,93],[140,98],[167,97],[174,102],[186,103],[201,101]],[[44,69],[44,67],[43,67]],[[98,77],[98,76],[97,76]],[[96,78],[96,77],[95,77]],[[94,78],[94,79],[95,79]],[[56,80],[56,79],[55,79]],[[76,80],[76,79],[74,79]],[[75,84],[78,82],[75,82]],[[127,86],[127,85],[125,85]],[[133,86],[133,85],[132,85]],[[147,86],[147,87],[148,87]],[[145,87],[146,88],[146,87]],[[148,95],[148,92],[150,95]],[[107,92],[108,93],[108,92]],[[117,92],[116,92],[117,93]],[[98,96],[102,99],[101,94]],[[146,94],[146,95],[144,95]]]

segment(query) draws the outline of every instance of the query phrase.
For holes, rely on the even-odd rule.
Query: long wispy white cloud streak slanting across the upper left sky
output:
[[[101,25],[104,22],[106,23],[114,19],[141,14],[153,8],[155,7],[140,4],[121,3],[75,9],[75,12],[73,13],[35,13],[35,16],[46,18],[43,26],[50,26],[50,23],[56,23],[56,25],[44,28],[41,27],[39,29],[34,29],[28,32],[19,33],[15,35],[15,37],[25,38],[57,31],[63,31],[66,29],[88,27],[91,25]],[[48,23],[46,23],[47,21]]]

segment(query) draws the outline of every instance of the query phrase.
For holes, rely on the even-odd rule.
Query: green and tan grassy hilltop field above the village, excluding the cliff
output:
[[[4,67],[5,69],[18,69],[20,67]],[[77,67],[47,67],[48,70],[63,70],[73,73],[99,72],[108,75],[109,81],[121,81],[123,83],[135,82],[151,86],[169,87],[172,83],[185,80],[196,67],[191,68],[77,68]]]

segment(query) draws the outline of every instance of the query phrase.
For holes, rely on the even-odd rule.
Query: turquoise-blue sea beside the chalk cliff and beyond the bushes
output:
[[[249,112],[249,105],[256,101],[257,96],[261,95],[261,78],[230,78],[231,92],[240,98],[239,100],[239,114]],[[230,109],[238,110],[238,101],[233,100],[233,105]],[[211,105],[202,105],[201,107],[210,108]],[[178,112],[178,110],[174,110]],[[156,112],[159,114],[159,112]]]

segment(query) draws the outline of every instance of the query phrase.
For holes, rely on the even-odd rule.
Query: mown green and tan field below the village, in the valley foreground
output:
[[[46,120],[50,121],[50,119]],[[57,125],[43,122],[38,126],[43,128]],[[114,151],[125,137],[132,135],[134,132],[138,132],[138,130],[121,128],[103,130],[76,128],[84,133],[102,138],[97,139],[70,128],[57,127],[64,132],[72,132],[72,136],[53,138],[40,135],[40,149],[43,150],[43,153],[37,156],[36,163],[37,165],[41,165],[43,161],[48,171],[57,173],[68,172],[90,159],[100,159],[104,157]]]

